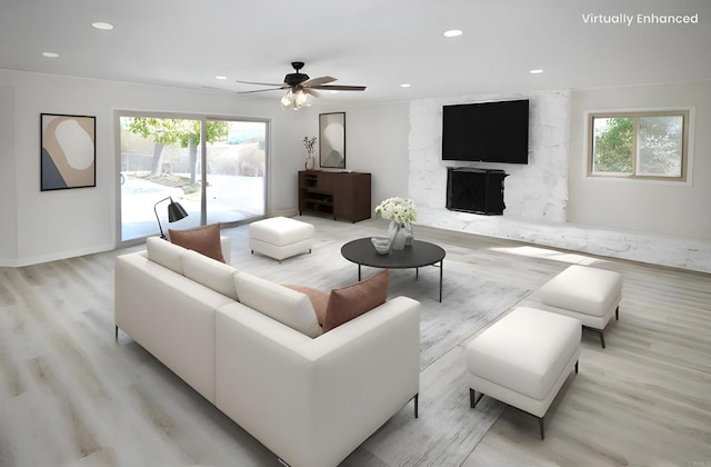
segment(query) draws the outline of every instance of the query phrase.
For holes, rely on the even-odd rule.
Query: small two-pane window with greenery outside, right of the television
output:
[[[591,113],[588,175],[685,181],[689,111]]]

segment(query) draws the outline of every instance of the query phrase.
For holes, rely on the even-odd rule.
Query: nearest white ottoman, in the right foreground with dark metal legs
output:
[[[471,407],[488,395],[543,418],[580,356],[580,321],[519,307],[477,336],[465,348]],[[477,398],[477,391],[481,393]]]

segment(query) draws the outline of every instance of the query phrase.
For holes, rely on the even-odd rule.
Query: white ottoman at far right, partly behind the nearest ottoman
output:
[[[540,289],[544,309],[577,318],[585,328],[600,335],[612,315],[620,319],[622,275],[604,269],[573,265]]]

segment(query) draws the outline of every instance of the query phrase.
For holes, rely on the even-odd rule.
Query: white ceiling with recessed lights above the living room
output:
[[[699,23],[587,24],[587,13]],[[236,79],[282,82],[291,61],[368,87],[321,99],[362,102],[708,80],[711,0],[0,0],[2,69],[234,92],[259,89]]]

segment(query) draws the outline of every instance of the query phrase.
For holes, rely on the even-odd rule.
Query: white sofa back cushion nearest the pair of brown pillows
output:
[[[234,275],[240,302],[309,337],[321,335],[321,327],[306,294],[270,282],[247,272]]]

